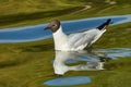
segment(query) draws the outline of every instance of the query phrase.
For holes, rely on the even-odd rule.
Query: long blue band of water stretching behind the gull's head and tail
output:
[[[131,22],[131,15],[118,15],[67,21],[62,22],[62,26],[64,28],[64,33],[74,33],[97,27],[107,18],[112,18],[114,23],[111,25]],[[0,44],[25,42],[50,38],[51,32],[44,30],[44,27],[46,26],[47,24],[40,24],[35,26],[0,29]]]

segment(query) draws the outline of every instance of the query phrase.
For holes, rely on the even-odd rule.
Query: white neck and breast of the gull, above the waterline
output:
[[[52,34],[55,40],[55,50],[61,50],[63,45],[67,42],[67,35],[62,32],[62,26]]]

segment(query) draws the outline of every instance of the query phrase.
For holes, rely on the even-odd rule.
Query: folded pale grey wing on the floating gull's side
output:
[[[69,45],[73,48],[85,48],[95,42],[105,32],[99,29],[90,29],[84,33],[76,33],[69,35]]]

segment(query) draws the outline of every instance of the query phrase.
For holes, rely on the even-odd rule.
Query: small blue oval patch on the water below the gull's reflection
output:
[[[47,86],[71,86],[71,85],[82,85],[91,83],[91,78],[88,76],[70,76],[70,77],[61,77],[55,78],[45,82],[43,85]]]

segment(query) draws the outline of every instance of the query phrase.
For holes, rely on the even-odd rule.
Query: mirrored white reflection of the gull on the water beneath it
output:
[[[104,63],[108,60],[106,54],[88,51],[56,51],[53,70],[56,75],[64,75],[68,71],[98,71],[104,70]],[[78,65],[69,65],[72,63]]]

